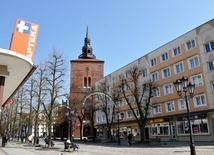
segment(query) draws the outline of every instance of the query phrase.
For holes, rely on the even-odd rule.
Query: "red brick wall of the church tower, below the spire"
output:
[[[77,59],[71,60],[71,79],[70,79],[70,99],[81,101],[89,89],[83,88],[84,77],[91,77],[91,88],[94,88],[95,82],[104,76],[104,61],[96,59]],[[86,68],[89,68],[87,71]],[[81,104],[81,103],[80,103]],[[79,122],[76,122],[76,126]],[[84,125],[83,125],[84,128]],[[83,133],[83,131],[82,131]],[[80,137],[80,130],[77,128],[73,132],[74,137]]]

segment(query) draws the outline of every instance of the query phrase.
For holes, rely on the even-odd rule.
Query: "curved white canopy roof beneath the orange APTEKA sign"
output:
[[[5,76],[2,106],[16,93],[37,68],[26,56],[17,52],[0,48],[0,66],[5,66],[7,74],[0,70],[0,76]]]

